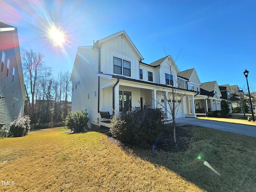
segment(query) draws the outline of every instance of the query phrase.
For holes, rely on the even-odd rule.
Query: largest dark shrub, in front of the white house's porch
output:
[[[151,147],[164,129],[164,112],[144,108],[116,114],[110,120],[110,133],[121,142]]]

